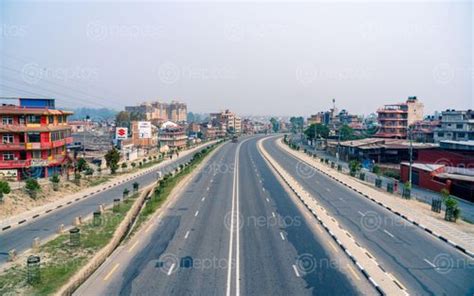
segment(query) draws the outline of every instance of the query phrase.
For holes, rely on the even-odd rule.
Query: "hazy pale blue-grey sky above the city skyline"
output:
[[[116,110],[474,109],[466,2],[0,1],[0,96]]]

